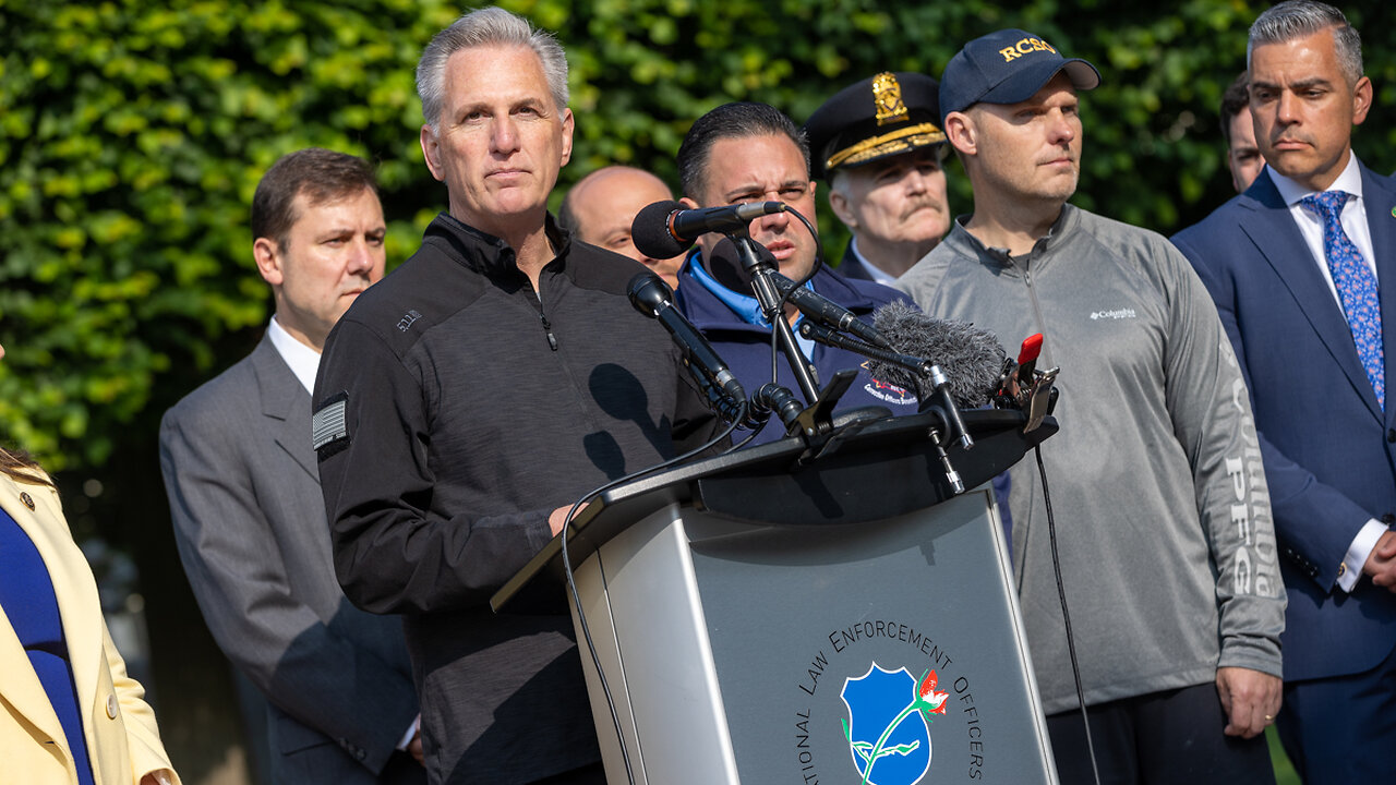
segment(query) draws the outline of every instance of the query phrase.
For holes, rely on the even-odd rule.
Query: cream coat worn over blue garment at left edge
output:
[[[0,356],[4,356],[3,348]],[[91,781],[95,785],[179,785],[161,744],[155,714],[144,700],[145,690],[126,675],[126,662],[112,645],[92,568],[73,542],[57,490],[32,461],[4,448],[0,448],[0,507],[34,542],[53,582]],[[7,525],[3,515],[0,525]],[[36,598],[45,594],[45,587],[34,591]],[[0,608],[0,781],[77,785],[82,782],[78,765],[49,694],[11,624],[14,613],[18,610]]]

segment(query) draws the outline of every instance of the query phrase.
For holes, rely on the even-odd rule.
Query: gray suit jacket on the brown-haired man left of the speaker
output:
[[[424,782],[392,756],[417,714],[401,622],[335,580],[310,394],[269,338],[165,413],[161,471],[204,620],[269,701],[275,781]]]

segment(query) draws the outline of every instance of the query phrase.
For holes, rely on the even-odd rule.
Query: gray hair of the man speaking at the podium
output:
[[[452,54],[475,46],[526,46],[537,54],[557,110],[567,109],[567,54],[553,34],[535,28],[504,8],[470,11],[436,34],[417,61],[417,96],[422,117],[431,130],[441,122],[445,103],[445,64]]]

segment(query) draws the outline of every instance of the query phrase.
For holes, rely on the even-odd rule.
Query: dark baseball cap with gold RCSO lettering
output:
[[[951,112],[974,103],[1027,101],[1067,71],[1076,89],[1094,89],[1100,71],[1079,57],[1062,57],[1040,36],[1020,29],[1001,29],[965,45],[941,74],[941,124]]]

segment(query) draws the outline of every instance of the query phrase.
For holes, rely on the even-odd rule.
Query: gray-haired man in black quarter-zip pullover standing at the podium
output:
[[[315,450],[335,570],[402,613],[434,784],[600,784],[571,620],[487,599],[584,493],[701,444],[713,418],[625,299],[644,267],[547,214],[568,161],[567,59],[500,8],[417,67],[448,210],[329,335]]]

